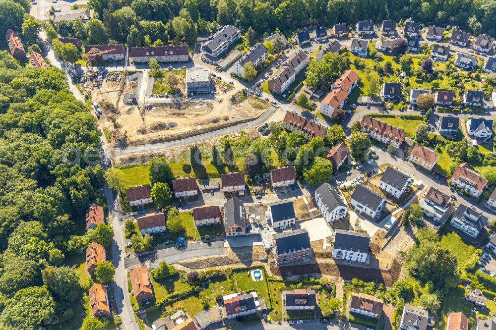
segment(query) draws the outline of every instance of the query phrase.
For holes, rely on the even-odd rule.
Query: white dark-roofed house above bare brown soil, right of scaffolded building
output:
[[[336,229],[332,258],[368,262],[371,238],[366,232]]]

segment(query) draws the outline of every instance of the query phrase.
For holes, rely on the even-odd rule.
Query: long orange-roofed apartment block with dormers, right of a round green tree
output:
[[[369,134],[371,138],[385,144],[392,144],[395,148],[399,148],[406,138],[404,130],[369,116],[362,117],[360,126],[362,131]]]

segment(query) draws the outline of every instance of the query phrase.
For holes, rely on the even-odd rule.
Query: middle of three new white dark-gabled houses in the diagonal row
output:
[[[350,197],[350,204],[355,208],[355,212],[366,214],[372,219],[380,216],[386,203],[384,196],[363,185],[358,185]]]

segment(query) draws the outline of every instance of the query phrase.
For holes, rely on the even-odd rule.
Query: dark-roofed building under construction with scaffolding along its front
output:
[[[272,253],[278,265],[310,261],[312,249],[307,230],[296,229],[274,234],[272,242]]]

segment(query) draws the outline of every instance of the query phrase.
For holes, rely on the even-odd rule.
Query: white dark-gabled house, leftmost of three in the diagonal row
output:
[[[324,182],[315,190],[315,203],[327,222],[343,220],[348,206],[339,192],[329,183]]]

